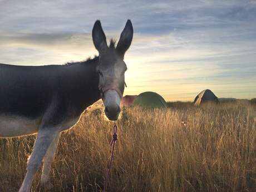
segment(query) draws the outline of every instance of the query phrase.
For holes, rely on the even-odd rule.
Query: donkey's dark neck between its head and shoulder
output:
[[[76,109],[83,111],[100,99],[97,65],[99,65],[99,57],[63,66],[60,83],[65,84],[64,90]]]

